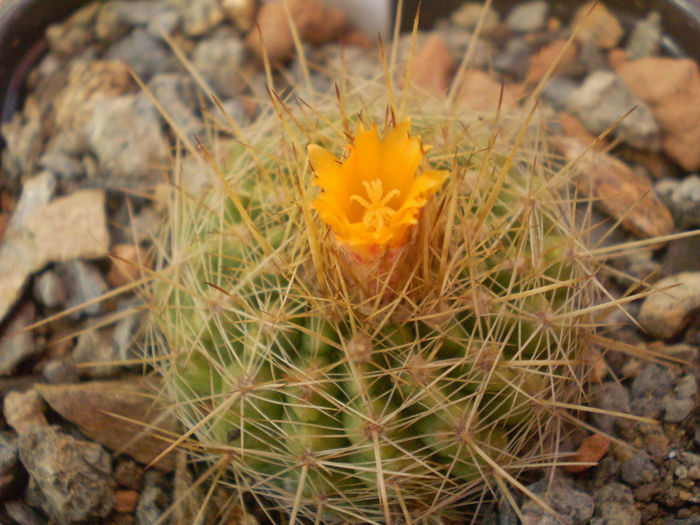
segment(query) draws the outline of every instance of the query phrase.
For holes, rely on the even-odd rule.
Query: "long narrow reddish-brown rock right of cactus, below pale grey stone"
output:
[[[606,213],[621,219],[626,228],[643,237],[659,237],[673,231],[673,217],[656,197],[651,182],[625,163],[601,151],[589,151],[572,137],[556,141],[567,161],[577,160],[576,185]]]

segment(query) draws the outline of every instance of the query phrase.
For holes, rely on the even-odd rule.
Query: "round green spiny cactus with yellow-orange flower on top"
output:
[[[208,190],[175,185],[159,372],[178,443],[290,523],[459,518],[562,461],[599,294],[581,199],[534,110],[345,84],[273,97]]]

